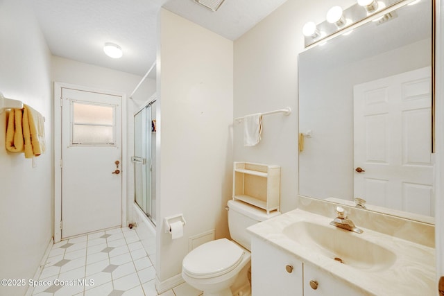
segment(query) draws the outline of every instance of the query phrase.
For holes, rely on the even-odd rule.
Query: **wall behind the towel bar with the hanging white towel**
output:
[[[336,1],[347,7],[351,0]],[[234,160],[281,166],[281,211],[296,208],[298,195],[298,53],[302,26],[319,23],[331,2],[289,0],[234,42],[234,117],[291,107],[291,114],[265,116],[262,141],[243,146],[234,125]]]

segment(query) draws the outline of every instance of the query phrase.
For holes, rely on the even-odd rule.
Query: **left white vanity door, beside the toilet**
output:
[[[302,262],[259,238],[251,250],[252,295],[302,296]]]

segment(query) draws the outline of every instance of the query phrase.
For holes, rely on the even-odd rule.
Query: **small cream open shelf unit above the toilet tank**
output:
[[[234,162],[233,200],[270,211],[280,204],[280,166]]]

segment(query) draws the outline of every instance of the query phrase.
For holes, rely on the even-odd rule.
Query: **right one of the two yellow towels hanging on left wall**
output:
[[[28,105],[23,105],[23,137],[25,158],[33,158],[44,153],[44,118]]]

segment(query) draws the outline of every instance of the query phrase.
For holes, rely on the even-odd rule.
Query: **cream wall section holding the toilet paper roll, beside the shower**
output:
[[[159,21],[157,288],[180,277],[190,236],[228,236],[233,121],[232,41],[164,9]],[[187,225],[172,241],[162,220],[175,214]]]

